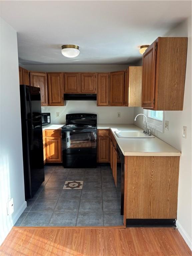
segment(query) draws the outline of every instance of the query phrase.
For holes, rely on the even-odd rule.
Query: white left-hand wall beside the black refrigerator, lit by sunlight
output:
[[[17,33],[1,22],[0,244],[26,207],[22,158]],[[14,212],[6,203],[13,197]]]

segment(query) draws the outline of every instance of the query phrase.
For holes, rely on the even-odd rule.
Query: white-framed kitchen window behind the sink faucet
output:
[[[147,116],[148,128],[150,128],[152,131],[157,130],[163,133],[164,111],[144,109],[143,113]],[[145,124],[145,119],[143,119],[143,124]]]

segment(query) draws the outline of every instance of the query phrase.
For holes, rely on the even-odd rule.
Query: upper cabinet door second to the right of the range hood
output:
[[[110,105],[124,106],[125,72],[112,72],[110,74]]]

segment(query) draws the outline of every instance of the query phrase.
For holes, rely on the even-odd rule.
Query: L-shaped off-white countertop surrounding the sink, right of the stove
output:
[[[124,156],[181,156],[181,152],[159,138],[119,138],[115,131],[142,131],[133,124],[97,124],[97,129],[110,129]]]

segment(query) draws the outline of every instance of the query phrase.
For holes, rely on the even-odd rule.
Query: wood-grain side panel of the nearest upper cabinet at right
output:
[[[159,37],[155,109],[183,110],[187,37]]]

